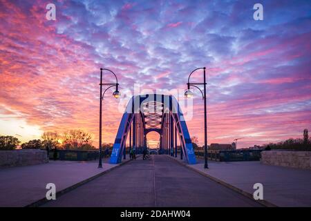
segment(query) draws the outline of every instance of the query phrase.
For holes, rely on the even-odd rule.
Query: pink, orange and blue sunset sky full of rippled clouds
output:
[[[253,18],[255,3],[263,21]],[[310,39],[310,1],[0,0],[0,135],[26,142],[83,129],[97,146],[102,67],[122,93],[104,98],[103,139],[113,142],[134,88],[177,90],[182,102],[189,73],[205,66],[209,144],[302,137],[311,129]],[[202,81],[202,72],[191,78]],[[189,133],[203,144],[195,94],[182,111],[193,112]]]

